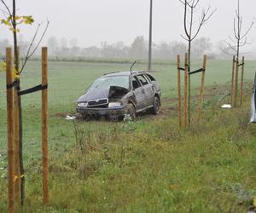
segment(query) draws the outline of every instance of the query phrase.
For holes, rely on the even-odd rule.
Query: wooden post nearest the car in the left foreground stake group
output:
[[[48,85],[48,51],[42,48],[42,85]],[[42,89],[43,199],[49,204],[48,90]]]

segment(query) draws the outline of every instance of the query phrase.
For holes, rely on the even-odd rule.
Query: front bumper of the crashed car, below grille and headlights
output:
[[[125,107],[108,107],[108,108],[90,108],[90,107],[77,107],[77,112],[83,116],[124,116],[127,113]]]

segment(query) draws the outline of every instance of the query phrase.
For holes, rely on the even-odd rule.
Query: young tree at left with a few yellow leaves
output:
[[[36,43],[36,39],[38,37],[38,32],[41,24],[38,24],[37,30],[34,33],[32,37],[32,41],[29,45],[29,48],[26,51],[26,55],[24,56],[24,61],[22,62],[21,68],[20,68],[20,54],[19,54],[19,45],[18,45],[18,29],[17,29],[17,21],[18,17],[16,15],[16,0],[12,0],[12,6],[9,6],[8,3],[4,0],[0,0],[0,3],[3,4],[3,8],[1,9],[5,19],[9,20],[9,27],[12,29],[11,32],[13,33],[13,43],[14,43],[14,54],[15,54],[15,74],[16,78],[15,81],[17,82],[17,93],[20,91],[20,74],[23,71],[24,67],[26,66],[26,62],[32,57],[32,55],[35,53],[35,51],[38,49],[39,44],[42,42],[42,39],[47,32],[49,21],[47,20],[46,26],[44,27],[44,32],[41,34],[41,36],[38,39],[38,42]],[[33,20],[32,20],[33,21]],[[23,155],[22,155],[22,107],[21,107],[21,99],[20,95],[18,96],[18,110],[19,110],[19,158],[20,158],[20,174],[24,174],[24,165],[23,165]],[[25,176],[22,176],[20,178],[20,204],[24,204],[25,199]]]

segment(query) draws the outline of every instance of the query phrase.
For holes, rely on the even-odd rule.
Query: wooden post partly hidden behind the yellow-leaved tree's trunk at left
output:
[[[20,48],[18,47],[18,58],[15,64],[20,64]],[[19,71],[16,71],[19,72]],[[16,73],[18,74],[18,73]],[[19,81],[15,78],[15,81]],[[15,201],[20,200],[20,125],[19,125],[19,104],[18,104],[18,89],[15,87],[15,104],[14,104],[14,120],[15,120]]]

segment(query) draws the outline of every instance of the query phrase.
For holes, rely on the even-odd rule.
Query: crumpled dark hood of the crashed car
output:
[[[80,96],[78,99],[79,102],[87,102],[91,100],[97,100],[97,99],[105,99],[109,98],[110,96],[114,96],[116,94],[119,94],[119,98],[124,96],[129,92],[128,89],[125,89],[123,87],[117,87],[117,86],[111,86],[109,89],[102,89],[102,88],[93,88],[88,89],[87,92]]]

